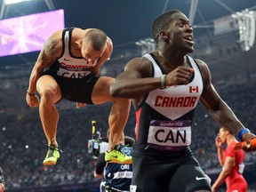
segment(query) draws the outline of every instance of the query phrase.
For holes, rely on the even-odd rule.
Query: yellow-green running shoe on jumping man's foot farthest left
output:
[[[47,155],[44,158],[44,165],[55,165],[57,160],[60,158],[60,148],[55,147],[53,144],[48,146]]]

